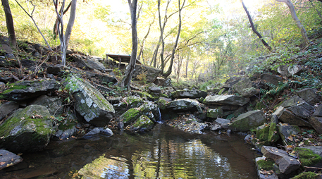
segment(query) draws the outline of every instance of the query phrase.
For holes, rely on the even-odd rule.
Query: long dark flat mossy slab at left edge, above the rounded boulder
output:
[[[59,88],[56,80],[35,80],[15,82],[9,85],[9,89],[0,94],[0,99],[8,99],[11,101],[20,101],[38,97],[42,94],[54,92]]]

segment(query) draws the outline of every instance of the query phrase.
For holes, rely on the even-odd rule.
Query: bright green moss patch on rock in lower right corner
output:
[[[321,161],[321,156],[314,154],[310,149],[296,147],[294,150],[297,152],[299,161],[303,166],[313,166]]]

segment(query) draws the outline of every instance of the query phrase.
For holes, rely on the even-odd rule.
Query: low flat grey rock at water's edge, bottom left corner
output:
[[[23,158],[20,156],[0,149],[0,171],[8,166],[14,166],[21,161],[23,161]]]

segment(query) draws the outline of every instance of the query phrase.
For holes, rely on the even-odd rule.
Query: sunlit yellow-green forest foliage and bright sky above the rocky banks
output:
[[[55,31],[57,14],[53,1],[8,0],[8,3],[18,45],[25,41],[46,45],[44,39],[51,47],[61,44]],[[64,30],[70,18],[70,3],[71,0],[65,2]],[[58,8],[61,4],[58,1]],[[162,68],[164,73],[171,66],[171,77],[177,80],[225,79],[245,70],[255,58],[271,53],[263,40],[273,53],[306,46],[298,23],[310,41],[321,36],[321,6],[322,2],[317,0],[139,0],[137,59],[144,65]],[[35,22],[23,9],[32,14]],[[8,36],[4,8],[0,13],[1,35]],[[128,1],[78,1],[68,49],[104,58],[105,54],[131,54]]]

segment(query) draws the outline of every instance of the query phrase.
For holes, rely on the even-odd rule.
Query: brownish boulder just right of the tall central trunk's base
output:
[[[137,75],[140,75],[144,72],[147,73],[146,75],[147,82],[154,82],[154,80],[156,80],[156,77],[158,77],[159,74],[161,73],[161,70],[157,68],[153,68],[151,66],[143,66],[143,65],[136,64],[133,77],[137,79]]]

